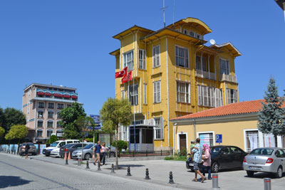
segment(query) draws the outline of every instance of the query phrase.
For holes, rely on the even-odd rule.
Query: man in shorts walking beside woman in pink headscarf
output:
[[[194,171],[195,171],[195,179],[193,179],[192,181],[197,181],[197,174],[199,174],[202,177],[201,182],[203,183],[205,177],[203,176],[203,174],[201,174],[201,171],[199,171],[199,167],[198,167],[198,164],[201,164],[202,162],[202,151],[203,151],[203,147],[200,144],[200,139],[197,138],[196,144],[192,149],[192,154],[194,154],[193,164],[194,164]]]

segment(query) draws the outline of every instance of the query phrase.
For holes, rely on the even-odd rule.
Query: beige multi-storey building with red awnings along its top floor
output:
[[[22,112],[26,115],[28,138],[45,142],[56,134],[62,137],[63,129],[58,113],[77,102],[76,88],[32,83],[24,89]]]

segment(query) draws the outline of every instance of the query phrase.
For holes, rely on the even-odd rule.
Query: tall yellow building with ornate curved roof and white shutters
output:
[[[155,150],[172,149],[172,118],[239,102],[234,60],[241,53],[229,42],[206,46],[211,32],[203,21],[187,18],[158,31],[133,26],[113,36],[120,41],[110,53],[115,72],[125,66],[133,71],[128,83],[115,79],[115,97],[128,98],[135,113],[132,125],[120,127],[120,139],[132,143],[134,124],[153,127],[148,136]],[[136,135],[143,143],[142,131]]]

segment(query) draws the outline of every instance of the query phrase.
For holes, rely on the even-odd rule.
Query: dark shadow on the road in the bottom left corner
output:
[[[21,186],[30,182],[26,179],[21,179],[19,176],[0,176],[0,189],[10,186]]]

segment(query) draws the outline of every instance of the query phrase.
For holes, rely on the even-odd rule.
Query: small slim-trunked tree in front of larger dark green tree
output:
[[[95,123],[91,117],[86,117],[84,115],[81,115],[76,120],[76,125],[78,126],[78,129],[81,131],[81,138],[82,138],[81,159],[83,160],[84,159],[83,158],[84,137],[85,137],[86,132],[88,131],[88,126],[94,127]],[[93,144],[93,148],[94,148],[94,144]]]

